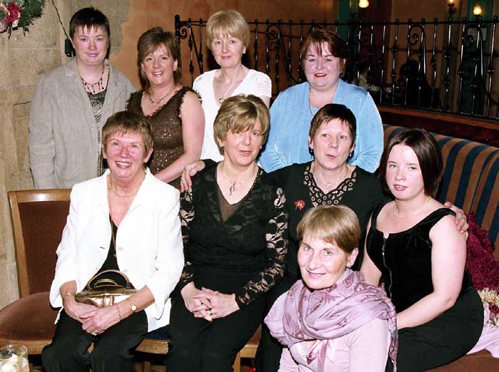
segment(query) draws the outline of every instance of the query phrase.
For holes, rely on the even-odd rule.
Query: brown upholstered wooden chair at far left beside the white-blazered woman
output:
[[[29,355],[51,342],[57,316],[48,301],[56,248],[70,190],[9,191],[20,299],[0,311],[0,345],[22,343]]]

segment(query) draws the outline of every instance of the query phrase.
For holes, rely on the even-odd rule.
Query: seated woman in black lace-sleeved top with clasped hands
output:
[[[182,194],[186,262],[172,298],[168,371],[232,371],[262,321],[263,295],[284,274],[284,195],[255,162],[268,128],[260,98],[227,98],[214,126],[224,160]]]

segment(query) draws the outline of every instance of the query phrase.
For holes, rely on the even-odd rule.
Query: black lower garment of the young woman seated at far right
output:
[[[421,372],[465,356],[483,329],[483,305],[470,288],[456,304],[426,324],[398,331],[398,372]],[[386,371],[393,371],[389,359]]]

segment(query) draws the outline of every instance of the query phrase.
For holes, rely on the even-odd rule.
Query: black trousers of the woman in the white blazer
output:
[[[41,353],[46,372],[128,372],[133,351],[148,332],[145,311],[128,316],[103,334],[92,336],[79,321],[61,312],[52,343]],[[93,343],[93,351],[88,346]]]

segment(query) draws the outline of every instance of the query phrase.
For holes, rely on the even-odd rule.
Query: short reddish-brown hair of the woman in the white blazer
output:
[[[102,145],[106,150],[106,143],[115,133],[138,133],[144,143],[145,153],[154,147],[153,131],[148,120],[137,113],[119,111],[111,115],[102,128]]]

